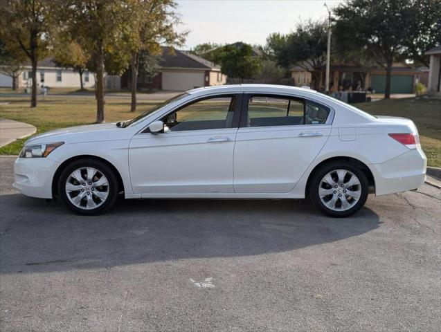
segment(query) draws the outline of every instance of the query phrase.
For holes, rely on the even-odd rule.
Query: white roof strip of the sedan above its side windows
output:
[[[299,88],[297,86],[276,85],[276,84],[230,84],[219,86],[204,86],[202,88],[187,91],[190,95],[206,95],[211,93],[237,93],[237,92],[257,92],[257,93],[317,93],[309,88]]]

